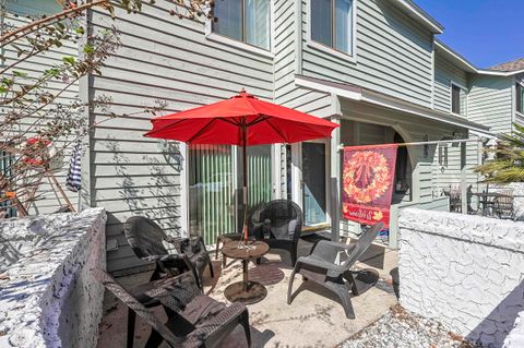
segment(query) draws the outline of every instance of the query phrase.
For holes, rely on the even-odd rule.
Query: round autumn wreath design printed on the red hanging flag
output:
[[[356,203],[382,196],[392,182],[388,159],[376,151],[359,151],[344,166],[344,192]]]

